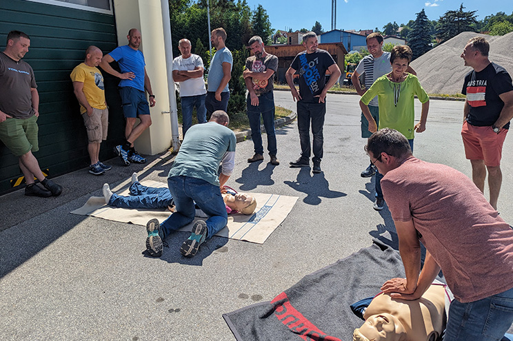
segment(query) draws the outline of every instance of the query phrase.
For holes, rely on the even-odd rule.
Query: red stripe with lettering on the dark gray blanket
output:
[[[339,338],[323,333],[308,318],[305,318],[305,316],[292,307],[286,293],[280,293],[271,301],[271,304],[276,304],[274,316],[281,323],[285,324],[285,327],[288,327],[292,333],[299,335],[303,340],[341,341]]]

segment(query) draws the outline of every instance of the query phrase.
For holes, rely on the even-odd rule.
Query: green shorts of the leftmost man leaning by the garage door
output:
[[[0,123],[0,141],[16,156],[39,150],[37,117],[8,118]]]

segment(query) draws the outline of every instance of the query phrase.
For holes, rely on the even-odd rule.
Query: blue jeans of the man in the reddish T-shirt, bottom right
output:
[[[513,289],[475,302],[451,302],[444,341],[500,341],[513,322]]]

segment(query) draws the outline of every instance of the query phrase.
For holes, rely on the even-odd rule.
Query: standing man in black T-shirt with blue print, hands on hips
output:
[[[326,94],[338,81],[341,72],[328,51],[317,48],[317,36],[314,32],[303,35],[305,51],[300,52],[285,73],[285,78],[297,101],[297,127],[301,143],[301,157],[291,162],[290,167],[310,166],[310,122],[314,136],[312,172],[321,173],[323,158],[323,125],[326,114]],[[326,70],[330,71],[330,81],[326,83]],[[292,77],[299,71],[299,93]]]

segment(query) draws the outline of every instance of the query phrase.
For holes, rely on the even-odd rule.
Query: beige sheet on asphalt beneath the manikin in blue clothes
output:
[[[154,180],[143,180],[141,185],[147,187],[167,186],[166,183]],[[130,195],[128,189],[117,192],[117,194],[122,196]],[[229,214],[228,225],[221,229],[216,236],[263,244],[274,229],[287,218],[298,198],[296,196],[280,196],[278,194],[251,193],[251,195],[257,200],[255,213],[252,216]],[[92,196],[82,207],[70,213],[143,226],[151,218],[157,218],[162,222],[171,214],[167,209],[123,209],[110,207],[105,205],[103,196]],[[190,231],[191,227],[192,223],[182,227],[180,231]]]

